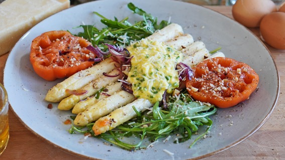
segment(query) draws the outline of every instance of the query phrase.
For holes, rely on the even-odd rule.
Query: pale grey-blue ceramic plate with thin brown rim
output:
[[[63,121],[69,118],[70,112],[58,110],[56,104],[52,109],[47,108],[45,94],[60,80],[45,81],[35,74],[29,61],[32,39],[44,31],[69,29],[77,33],[79,30],[73,27],[82,23],[97,25],[100,18],[92,11],[112,19],[129,16],[130,21],[140,20],[127,8],[130,1],[159,20],[171,18],[172,22],[181,24],[186,33],[192,34],[195,40],[201,39],[209,50],[221,46],[226,56],[250,64],[260,76],[259,89],[250,99],[235,107],[218,109],[217,115],[211,117],[214,125],[208,137],[191,149],[188,146],[192,140],[174,144],[173,140],[164,143],[162,139],[146,150],[126,151],[106,145],[100,139],[69,134],[66,131],[69,125]],[[33,132],[74,154],[99,159],[190,159],[212,155],[254,133],[272,112],[279,92],[276,66],[257,37],[220,13],[173,0],[99,0],[61,11],[37,24],[15,45],[5,67],[4,84],[12,109]]]

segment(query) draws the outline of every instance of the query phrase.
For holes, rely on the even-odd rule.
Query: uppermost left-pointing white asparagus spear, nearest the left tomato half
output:
[[[48,91],[45,100],[50,102],[59,102],[63,98],[70,95],[70,93],[66,92],[66,89],[79,89],[89,83],[91,80],[98,78],[98,76],[102,75],[103,72],[111,71],[115,68],[115,65],[118,65],[118,63],[111,58],[107,58],[96,65],[93,65],[92,67],[78,71],[62,82],[53,86]]]

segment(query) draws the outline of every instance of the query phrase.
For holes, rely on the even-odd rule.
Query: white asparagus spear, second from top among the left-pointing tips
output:
[[[120,71],[115,68],[112,71],[110,71],[108,74],[110,75],[117,75],[120,74]],[[85,94],[72,94],[68,97],[62,99],[58,104],[58,109],[60,110],[69,110],[74,107],[76,103],[78,103],[80,100],[83,100],[87,98],[88,96],[94,95],[98,90],[100,90],[102,87],[107,86],[110,83],[113,83],[117,81],[120,78],[120,76],[105,76],[101,75],[99,78],[92,80],[87,85],[83,86],[82,90],[87,90],[88,92]]]

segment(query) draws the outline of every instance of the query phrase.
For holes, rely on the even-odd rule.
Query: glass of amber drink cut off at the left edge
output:
[[[5,150],[9,139],[8,95],[3,84],[0,83],[0,155]]]

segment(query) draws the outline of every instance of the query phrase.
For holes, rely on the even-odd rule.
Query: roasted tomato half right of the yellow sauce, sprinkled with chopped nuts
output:
[[[191,96],[218,107],[231,107],[249,98],[259,76],[248,64],[227,57],[214,57],[194,66],[186,86]]]

